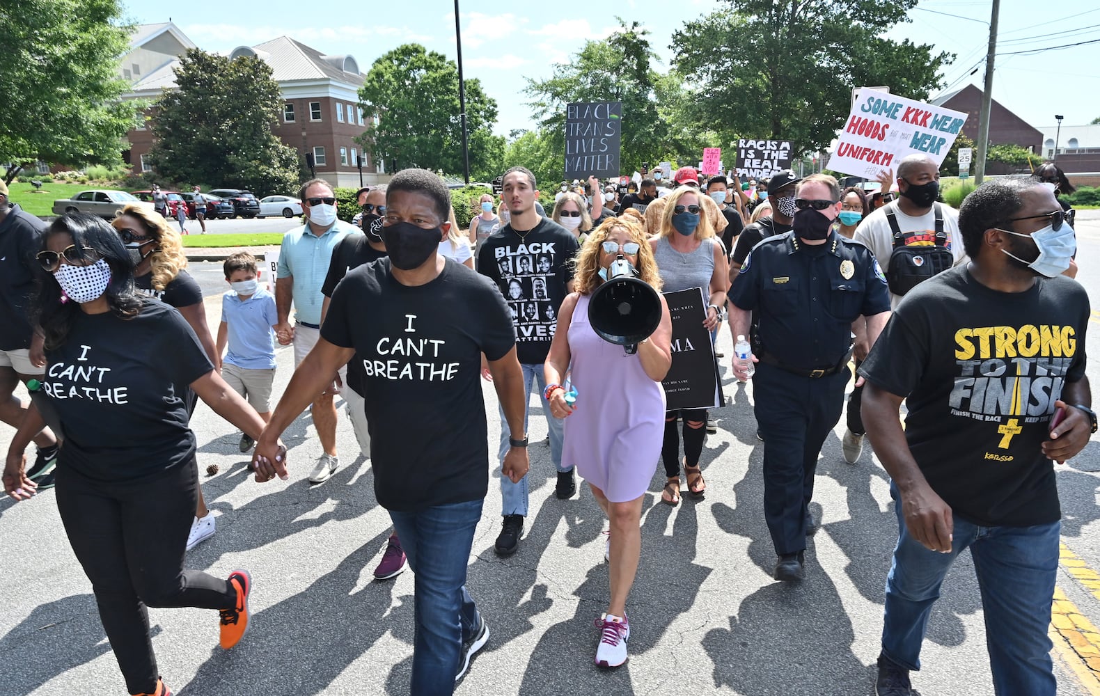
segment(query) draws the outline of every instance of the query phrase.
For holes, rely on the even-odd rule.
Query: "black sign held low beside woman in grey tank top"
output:
[[[718,408],[721,382],[711,332],[703,325],[706,299],[703,288],[664,292],[672,318],[672,366],[661,380],[668,410]]]

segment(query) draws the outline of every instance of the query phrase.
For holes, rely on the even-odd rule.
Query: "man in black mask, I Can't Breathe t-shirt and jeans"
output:
[[[416,573],[414,694],[450,694],[488,640],[466,592],[466,563],[488,489],[482,355],[507,413],[502,476],[527,473],[524,375],[501,292],[439,254],[450,192],[425,169],[394,175],[382,236],[387,258],[352,269],[332,292],[321,335],[256,443],[266,479],[275,438],[349,360],[365,372],[374,491]]]

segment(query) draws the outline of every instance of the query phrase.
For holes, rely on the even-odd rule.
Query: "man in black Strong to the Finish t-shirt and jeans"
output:
[[[963,202],[959,230],[970,263],[908,292],[859,368],[864,420],[892,479],[899,530],[878,693],[911,693],[909,671],[921,666],[941,583],[969,548],[994,689],[1054,696],[1054,463],[1097,431],[1085,376],[1089,299],[1059,275],[1074,231],[1041,184],[983,184]]]

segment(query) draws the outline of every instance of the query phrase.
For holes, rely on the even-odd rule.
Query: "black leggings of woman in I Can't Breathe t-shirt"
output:
[[[193,460],[140,483],[102,483],[57,467],[57,510],[91,581],[99,618],[131,694],[152,694],[158,672],[145,607],[229,609],[228,581],[184,570],[198,500]]]

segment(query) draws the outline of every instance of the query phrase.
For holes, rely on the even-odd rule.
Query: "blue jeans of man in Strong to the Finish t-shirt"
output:
[[[994,691],[999,696],[1054,696],[1047,627],[1062,522],[979,527],[956,517],[952,552],[938,553],[910,537],[893,483],[890,495],[899,537],[887,576],[883,654],[909,670],[921,669],[921,643],[932,605],[955,557],[969,546],[981,588]]]

